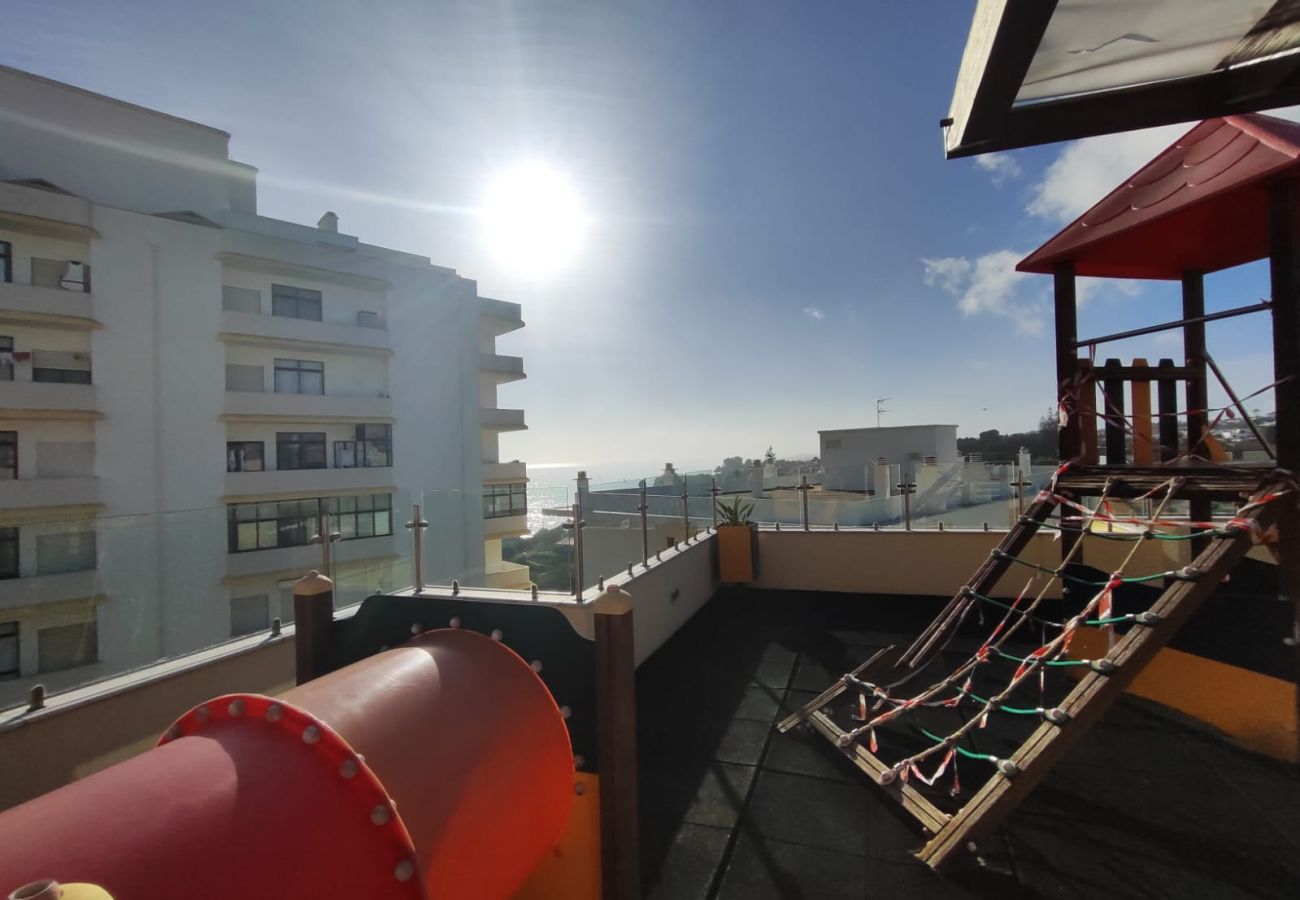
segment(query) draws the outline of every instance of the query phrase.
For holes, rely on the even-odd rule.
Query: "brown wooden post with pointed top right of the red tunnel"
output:
[[[632,597],[610,588],[595,613],[595,736],[601,779],[601,896],[640,900],[636,644]]]

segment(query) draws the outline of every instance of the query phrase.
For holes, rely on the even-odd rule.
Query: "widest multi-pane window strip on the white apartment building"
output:
[[[228,507],[230,553],[309,544],[320,535],[322,505],[342,540],[393,533],[390,494],[233,503]]]

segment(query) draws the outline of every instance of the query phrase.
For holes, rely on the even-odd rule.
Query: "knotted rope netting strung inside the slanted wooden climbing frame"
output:
[[[1065,467],[1058,470],[1057,476],[1063,470]],[[1014,769],[1014,763],[1000,756],[998,750],[1006,754],[1014,752],[1027,737],[1028,730],[1037,727],[1041,721],[1061,723],[1069,718],[1057,706],[1074,685],[1072,680],[1063,678],[1065,670],[1091,667],[1093,671],[1108,671],[1106,666],[1110,663],[1105,657],[1087,658],[1071,653],[1079,629],[1101,628],[1109,648],[1114,644],[1117,628],[1143,627],[1160,620],[1150,610],[1154,601],[1149,590],[1143,590],[1144,587],[1197,577],[1197,571],[1191,567],[1130,572],[1141,544],[1147,540],[1183,541],[1205,535],[1225,538],[1249,536],[1253,542],[1261,542],[1266,536],[1260,533],[1253,519],[1244,516],[1252,509],[1282,496],[1266,494],[1240,507],[1226,524],[1187,523],[1162,518],[1178,488],[1176,476],[1150,492],[1152,498],[1158,499],[1149,516],[1115,515],[1109,498],[1109,484],[1096,509],[1088,509],[1058,494],[1056,481],[1057,477],[1053,477],[1039,499],[1056,503],[1058,515],[1041,524],[1058,533],[1069,531],[1078,535],[1078,540],[1056,568],[1002,550],[993,551],[994,559],[1002,558],[1027,568],[1028,579],[1010,602],[978,593],[967,585],[954,601],[956,606],[950,606],[936,619],[932,628],[937,628],[935,633],[944,635],[942,645],[928,652],[928,659],[916,671],[931,670],[939,663],[940,668],[946,667],[942,678],[910,696],[902,696],[902,684],[913,680],[911,676],[893,684],[878,684],[852,672],[844,675],[846,691],[838,705],[828,710],[844,723],[838,744],[841,748],[864,745],[881,760],[888,766],[881,783],[915,779],[927,787],[941,788],[940,779],[948,775],[950,782],[946,793],[957,797],[961,793],[958,761],[989,763],[1002,771],[1008,766]],[[1027,519],[1022,519],[1022,523],[1039,524]],[[1098,531],[1093,528],[1097,523],[1122,524],[1130,531]],[[1170,531],[1188,524],[1193,533]],[[1123,540],[1131,546],[1108,577],[1084,579],[1066,570],[1088,540]],[[1066,618],[1048,615],[1045,609],[1056,603],[1048,600],[1048,594],[1058,584],[1065,596],[1060,602],[1062,607],[1074,606],[1072,601],[1079,593],[1086,597],[1074,614]],[[1118,613],[1115,603],[1119,592],[1124,594],[1126,606],[1141,609]],[[971,615],[976,624],[968,627],[967,632],[980,635],[974,639],[978,644],[974,644],[974,649],[958,650],[957,646],[962,642],[966,646],[972,644],[970,637],[956,640]],[[946,624],[941,624],[945,622]],[[927,650],[923,649],[922,653]],[[1022,724],[989,728],[993,721],[1020,721]]]

